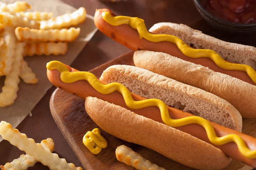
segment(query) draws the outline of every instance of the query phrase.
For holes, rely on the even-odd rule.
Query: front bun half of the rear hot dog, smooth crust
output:
[[[215,94],[230,102],[242,117],[256,117],[255,85],[161,52],[136,51],[134,64]]]

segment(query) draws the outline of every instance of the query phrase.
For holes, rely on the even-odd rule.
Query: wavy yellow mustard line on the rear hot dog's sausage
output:
[[[185,42],[180,40],[180,38],[175,37],[173,35],[168,34],[151,34],[148,32],[144,20],[138,17],[127,17],[127,16],[116,16],[113,17],[109,12],[102,12],[102,18],[111,26],[120,26],[122,24],[127,24],[132,28],[136,29],[140,35],[140,39],[145,38],[151,42],[162,42],[168,41],[172,42],[180,49],[180,51],[186,56],[190,58],[201,58],[207,57],[212,59],[219,68],[225,70],[237,70],[244,71],[256,83],[256,71],[249,65],[244,64],[234,64],[230,62],[226,62],[220,55],[218,55],[215,51],[209,49],[194,49],[190,48],[186,45]]]

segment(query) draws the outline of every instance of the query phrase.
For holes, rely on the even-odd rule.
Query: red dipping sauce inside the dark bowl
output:
[[[232,23],[256,23],[256,0],[200,0],[215,17]]]

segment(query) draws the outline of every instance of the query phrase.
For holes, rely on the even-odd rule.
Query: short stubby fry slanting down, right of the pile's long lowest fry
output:
[[[28,66],[28,63],[24,60],[21,61],[20,65],[20,78],[29,84],[35,84],[38,82],[35,73],[33,73],[32,69]]]

